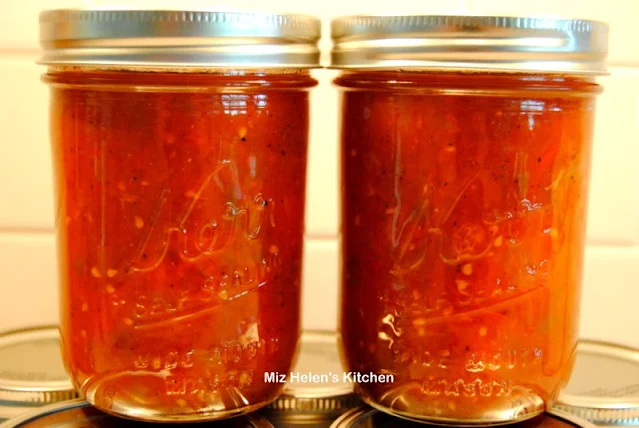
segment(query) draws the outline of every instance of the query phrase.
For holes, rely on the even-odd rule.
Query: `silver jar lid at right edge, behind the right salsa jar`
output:
[[[575,368],[555,408],[595,424],[639,424],[639,349],[580,340]]]

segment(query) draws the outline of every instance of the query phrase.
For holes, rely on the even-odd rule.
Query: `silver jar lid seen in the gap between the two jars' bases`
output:
[[[294,375],[294,377],[293,377]],[[316,379],[311,379],[315,375]],[[293,371],[282,395],[266,409],[276,426],[330,426],[361,404],[344,377],[334,333],[305,332]]]

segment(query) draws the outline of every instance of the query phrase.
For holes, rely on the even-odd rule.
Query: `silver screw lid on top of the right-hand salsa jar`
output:
[[[606,74],[608,25],[502,16],[346,16],[333,68]]]

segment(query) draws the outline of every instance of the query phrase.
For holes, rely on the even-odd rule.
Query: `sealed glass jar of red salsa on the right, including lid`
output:
[[[501,424],[548,408],[577,343],[605,24],[333,22],[340,342],[363,399]]]

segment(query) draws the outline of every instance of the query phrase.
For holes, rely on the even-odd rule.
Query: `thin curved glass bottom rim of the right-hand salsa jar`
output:
[[[430,424],[430,425],[441,425],[441,426],[481,427],[481,426],[510,425],[513,423],[523,422],[528,419],[532,419],[546,411],[545,402],[539,396],[536,396],[536,400],[534,402],[529,403],[529,405],[526,406],[525,409],[520,409],[519,412],[517,412],[513,408],[503,409],[503,410],[491,410],[491,411],[483,412],[481,417],[478,416],[478,417],[468,417],[468,418],[416,414],[415,412],[408,412],[403,409],[385,406],[361,393],[360,393],[360,398],[362,399],[364,403],[368,404],[374,409],[387,413],[391,416],[395,416],[395,417],[405,419],[411,422]],[[523,410],[523,412],[521,410]]]

